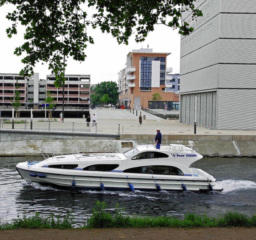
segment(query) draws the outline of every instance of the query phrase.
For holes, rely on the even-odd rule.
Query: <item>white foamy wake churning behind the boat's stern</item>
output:
[[[239,190],[256,189],[256,182],[249,180],[227,179],[216,182],[216,184],[222,186],[222,188],[224,189],[222,192],[236,192]]]

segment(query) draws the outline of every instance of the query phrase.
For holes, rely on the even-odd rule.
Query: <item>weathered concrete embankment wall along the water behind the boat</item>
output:
[[[0,132],[0,155],[38,155],[78,151],[123,152],[138,144],[153,144],[153,134],[122,134],[120,136],[67,135],[49,133]],[[256,156],[256,135],[162,135],[162,145],[177,143],[196,147],[204,156]]]

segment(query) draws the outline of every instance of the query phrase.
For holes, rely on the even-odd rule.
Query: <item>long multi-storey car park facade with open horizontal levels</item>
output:
[[[65,75],[64,104],[67,107],[84,107],[90,105],[90,75]],[[12,104],[16,81],[20,91],[20,102],[23,107],[40,107],[46,99],[46,91],[54,96],[54,103],[62,105],[62,87],[54,87],[54,75],[40,79],[38,73],[31,77],[21,77],[19,74],[0,73],[0,105],[7,107]]]

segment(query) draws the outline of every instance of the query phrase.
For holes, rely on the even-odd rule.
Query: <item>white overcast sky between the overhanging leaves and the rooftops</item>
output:
[[[0,73],[19,73],[23,65],[22,57],[14,55],[16,47],[23,44],[24,29],[18,29],[18,34],[8,38],[6,28],[11,26],[5,16],[10,11],[7,6],[0,7]],[[88,44],[86,48],[87,58],[84,62],[71,60],[67,61],[65,74],[90,75],[91,84],[102,81],[118,80],[118,73],[124,69],[126,56],[132,50],[140,48],[152,48],[153,52],[171,53],[167,57],[166,67],[172,67],[172,73],[180,73],[180,35],[178,30],[173,30],[167,26],[157,25],[154,32],[148,34],[146,40],[141,43],[135,42],[135,37],[131,36],[129,44],[118,44],[111,34],[103,34],[100,30],[92,30],[88,33],[94,38],[94,44]],[[38,63],[34,67],[34,72],[39,73],[40,79],[46,79],[46,75],[51,74],[48,64]]]

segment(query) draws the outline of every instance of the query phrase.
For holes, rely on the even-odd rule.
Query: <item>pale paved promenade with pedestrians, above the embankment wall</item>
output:
[[[164,113],[164,112],[162,112]],[[92,109],[90,110],[91,119],[93,114],[96,115],[97,127],[86,126],[86,119],[82,118],[64,118],[64,122],[58,121],[48,122],[48,118],[33,119],[33,130],[30,130],[30,119],[27,119],[27,124],[15,124],[12,129],[12,124],[2,124],[1,129],[26,130],[26,131],[51,131],[51,132],[76,132],[76,133],[91,133],[91,134],[156,134],[156,129],[160,128],[162,134],[180,134],[194,135],[194,125],[186,125],[179,123],[177,120],[167,120],[141,111],[142,125],[139,124],[138,117],[140,110],[128,111],[127,109]],[[119,127],[119,129],[118,129]],[[256,135],[256,130],[222,130],[208,129],[208,127],[196,127],[197,135]]]

